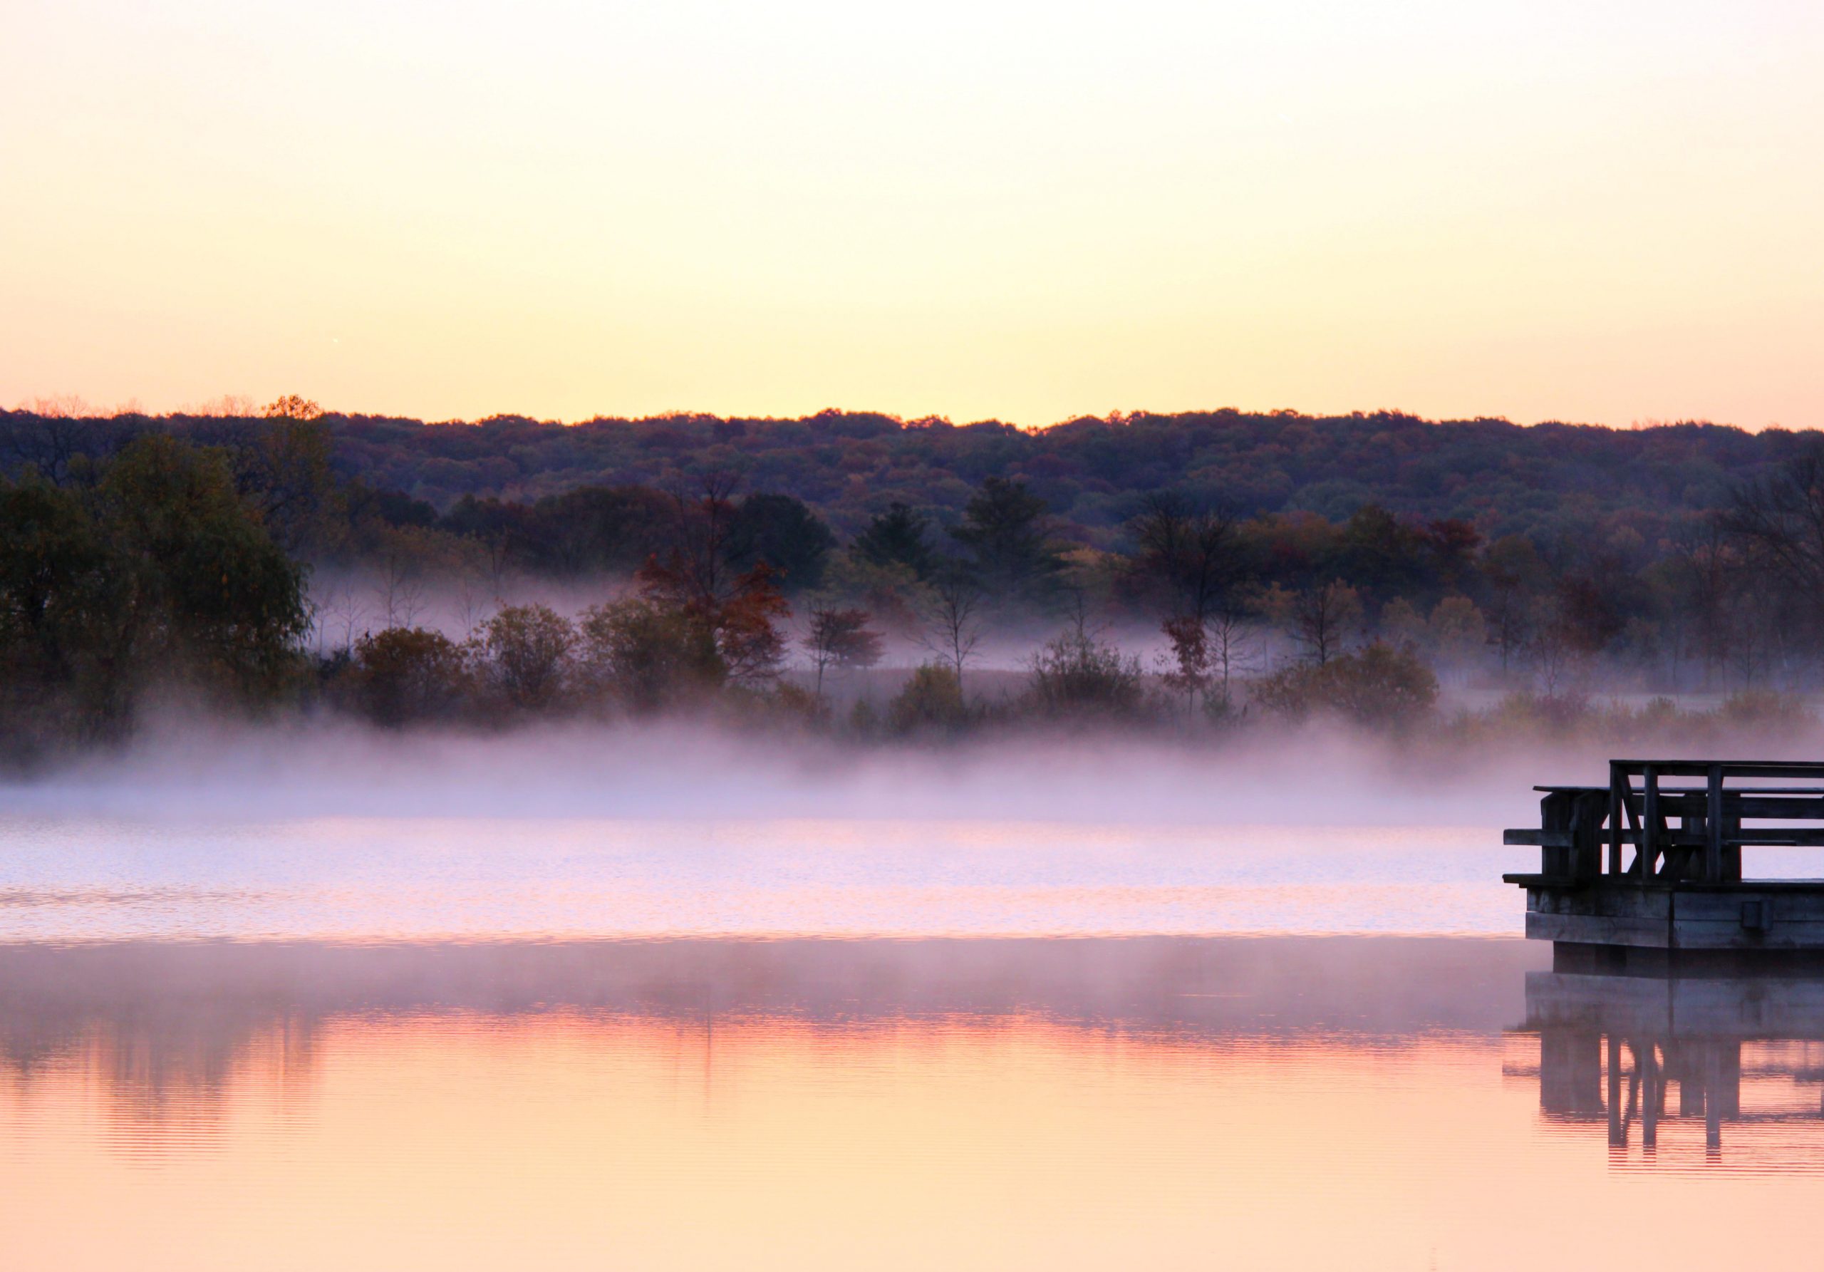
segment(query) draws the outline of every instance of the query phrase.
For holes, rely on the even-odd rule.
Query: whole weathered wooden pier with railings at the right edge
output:
[[[1824,763],[1614,759],[1607,787],[1538,787],[1527,936],[1591,971],[1777,953],[1824,960],[1824,880],[1746,880],[1746,847],[1824,845]]]

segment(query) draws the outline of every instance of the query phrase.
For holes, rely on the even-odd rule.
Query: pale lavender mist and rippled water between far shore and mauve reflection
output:
[[[173,728],[7,788],[0,940],[1492,934],[1525,805],[1315,739]]]

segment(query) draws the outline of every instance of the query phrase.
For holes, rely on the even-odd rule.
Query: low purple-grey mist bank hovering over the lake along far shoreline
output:
[[[1104,726],[857,746],[686,723],[503,734],[155,723],[128,748],[0,787],[13,812],[184,818],[989,818],[1198,825],[1494,825],[1601,752],[1441,765],[1306,730],[1184,745]]]

